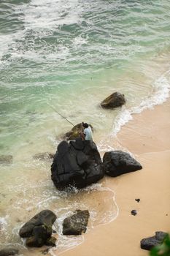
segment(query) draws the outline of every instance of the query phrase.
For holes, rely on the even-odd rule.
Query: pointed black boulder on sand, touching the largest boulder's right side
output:
[[[130,154],[119,150],[106,152],[103,158],[103,165],[104,172],[112,177],[142,169],[142,165]]]

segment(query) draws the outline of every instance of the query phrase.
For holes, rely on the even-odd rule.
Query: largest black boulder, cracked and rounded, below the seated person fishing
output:
[[[57,189],[70,186],[80,189],[96,183],[103,176],[101,157],[93,141],[77,138],[58,144],[51,165],[51,178]]]

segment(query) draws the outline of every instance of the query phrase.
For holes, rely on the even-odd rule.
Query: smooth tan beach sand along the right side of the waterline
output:
[[[114,178],[119,215],[115,221],[85,234],[85,241],[63,256],[145,256],[142,238],[155,231],[170,233],[170,100],[134,115],[117,140],[131,151],[143,169]],[[112,178],[104,183],[112,188]],[[136,198],[140,198],[139,203]],[[137,215],[131,215],[135,209]]]

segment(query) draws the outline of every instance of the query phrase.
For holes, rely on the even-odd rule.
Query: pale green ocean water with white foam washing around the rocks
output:
[[[117,132],[134,113],[166,101],[169,23],[169,0],[0,1],[0,155],[13,157],[0,166],[1,246],[25,248],[18,230],[45,208],[58,216],[56,255],[83,240],[61,235],[63,218],[76,208],[89,208],[89,229],[117,217],[115,192],[102,181],[58,192],[51,162],[33,156],[54,153],[72,129],[55,110],[73,124],[93,124],[104,153],[116,148]],[[102,109],[115,91],[125,94],[125,106]]]

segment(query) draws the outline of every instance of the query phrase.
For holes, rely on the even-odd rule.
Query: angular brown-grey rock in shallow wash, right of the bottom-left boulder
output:
[[[63,235],[79,236],[85,233],[88,225],[89,211],[77,210],[77,213],[63,220]]]

